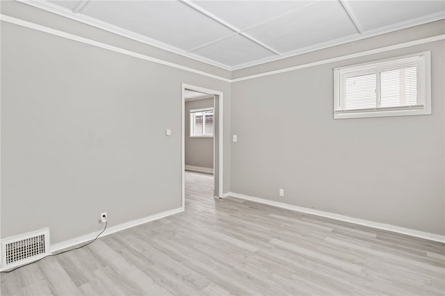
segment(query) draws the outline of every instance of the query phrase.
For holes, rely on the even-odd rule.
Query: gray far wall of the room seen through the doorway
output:
[[[213,108],[213,98],[186,101],[186,165],[213,169],[213,138],[190,137],[190,110]]]

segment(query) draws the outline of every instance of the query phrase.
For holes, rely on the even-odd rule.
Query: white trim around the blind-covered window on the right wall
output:
[[[347,69],[359,69],[359,67],[364,67],[368,65],[378,64],[382,62],[387,62],[390,60],[398,60],[401,58],[410,58],[413,56],[423,56],[423,70],[425,78],[425,101],[423,108],[412,108],[412,107],[398,107],[398,108],[381,108],[379,110],[369,109],[369,110],[357,110],[357,111],[341,111],[337,109],[340,106],[341,100],[341,88],[342,83],[340,74]],[[386,117],[386,116],[405,116],[405,115],[429,115],[431,114],[431,54],[430,51],[423,51],[421,53],[410,54],[406,56],[397,56],[395,58],[387,58],[385,60],[376,60],[369,63],[362,63],[357,65],[350,65],[347,67],[337,67],[334,68],[334,119],[343,118],[359,118],[359,117]]]

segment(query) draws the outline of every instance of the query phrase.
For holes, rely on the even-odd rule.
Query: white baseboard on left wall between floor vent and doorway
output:
[[[154,214],[154,215],[149,215],[148,217],[143,217],[143,218],[132,220],[132,221],[129,221],[129,222],[124,222],[122,224],[114,225],[112,227],[107,227],[106,230],[104,231],[104,233],[102,233],[100,235],[100,237],[102,238],[103,236],[108,236],[108,234],[111,234],[111,233],[115,233],[115,232],[118,232],[118,231],[130,228],[130,227],[135,227],[135,226],[138,226],[140,224],[144,224],[144,223],[147,223],[147,222],[150,222],[150,221],[158,220],[158,219],[161,219],[163,217],[168,217],[170,215],[175,215],[175,214],[181,213],[181,212],[184,212],[184,208],[183,207],[175,208],[173,210],[165,211],[165,212]],[[68,247],[73,247],[74,245],[81,244],[83,242],[88,242],[88,241],[94,239],[97,236],[97,234],[99,234],[99,232],[100,231],[98,230],[98,231],[95,231],[93,233],[88,233],[88,234],[86,234],[84,236],[78,236],[78,237],[72,238],[70,240],[64,240],[63,242],[57,242],[57,243],[51,245],[49,251],[52,253],[52,252],[56,252],[56,251],[58,251],[60,249],[66,249]]]

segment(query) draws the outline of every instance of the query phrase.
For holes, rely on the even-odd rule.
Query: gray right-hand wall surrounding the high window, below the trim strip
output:
[[[333,119],[334,67],[427,50],[432,115]],[[232,83],[232,192],[444,235],[444,52],[440,41]]]

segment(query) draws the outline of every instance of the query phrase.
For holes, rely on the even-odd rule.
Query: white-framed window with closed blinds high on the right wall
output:
[[[334,69],[334,119],[431,114],[430,52]]]

